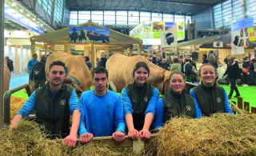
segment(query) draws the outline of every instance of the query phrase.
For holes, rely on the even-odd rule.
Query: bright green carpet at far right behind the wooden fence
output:
[[[220,85],[226,90],[226,94],[230,93],[229,85]],[[238,86],[239,93],[241,94],[243,102],[250,102],[250,106],[256,107],[256,86]],[[237,102],[237,98],[233,98],[235,92],[232,95],[231,101]]]

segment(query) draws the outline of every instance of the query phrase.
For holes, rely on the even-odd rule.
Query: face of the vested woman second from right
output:
[[[170,88],[175,94],[182,94],[186,82],[184,81],[181,74],[173,74],[170,78]]]

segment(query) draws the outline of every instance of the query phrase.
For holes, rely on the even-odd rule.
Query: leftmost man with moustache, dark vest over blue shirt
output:
[[[75,146],[80,122],[80,106],[73,87],[63,83],[66,78],[65,63],[54,61],[46,74],[49,82],[34,90],[12,120],[10,127],[18,125],[32,110],[36,110],[35,122],[46,127],[49,138],[64,138],[66,146]],[[72,126],[70,129],[70,114]]]

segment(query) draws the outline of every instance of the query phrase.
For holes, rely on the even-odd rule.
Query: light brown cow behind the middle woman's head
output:
[[[122,88],[134,82],[132,72],[137,62],[146,62],[150,67],[150,76],[147,79],[150,85],[158,88],[162,94],[170,90],[169,81],[167,81],[170,71],[154,65],[142,56],[126,57],[122,54],[114,54],[107,60],[106,69],[109,72],[109,81],[114,83],[118,93],[121,93]]]

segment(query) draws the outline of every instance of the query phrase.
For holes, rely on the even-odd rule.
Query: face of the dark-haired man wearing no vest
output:
[[[108,78],[106,78],[105,73],[94,74],[94,90],[95,91],[103,91],[106,90],[106,84],[108,82]]]

